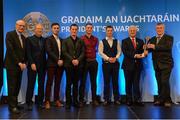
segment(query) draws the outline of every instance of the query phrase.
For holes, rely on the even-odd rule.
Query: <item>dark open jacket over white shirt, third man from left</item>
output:
[[[53,35],[49,36],[46,39],[45,43],[45,49],[48,54],[48,59],[47,59],[47,67],[56,67],[58,66],[57,62],[59,59],[63,59],[62,56],[62,39],[59,38],[60,43],[61,43],[61,54],[59,58],[59,49],[58,49],[58,44],[56,42],[56,39],[54,38]]]

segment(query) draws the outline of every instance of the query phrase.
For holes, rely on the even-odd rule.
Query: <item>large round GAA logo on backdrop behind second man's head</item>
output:
[[[31,12],[27,14],[23,20],[26,22],[25,36],[32,36],[34,34],[34,27],[36,24],[42,24],[44,27],[43,36],[46,37],[50,31],[50,21],[40,12]]]

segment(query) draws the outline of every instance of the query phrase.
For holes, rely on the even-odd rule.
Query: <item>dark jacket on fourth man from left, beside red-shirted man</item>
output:
[[[79,66],[83,65],[84,52],[85,52],[84,42],[78,37],[76,39],[77,39],[76,44],[73,43],[71,37],[68,37],[66,38],[66,40],[63,41],[62,52],[64,56],[65,67],[72,67],[73,59],[79,60]]]

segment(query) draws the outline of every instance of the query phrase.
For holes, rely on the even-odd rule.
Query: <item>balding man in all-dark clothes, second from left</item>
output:
[[[26,103],[28,110],[32,110],[32,97],[36,75],[38,75],[38,97],[37,104],[43,108],[44,81],[46,70],[45,38],[42,37],[43,26],[35,25],[34,35],[27,38],[27,57],[28,57],[28,85],[26,92]]]

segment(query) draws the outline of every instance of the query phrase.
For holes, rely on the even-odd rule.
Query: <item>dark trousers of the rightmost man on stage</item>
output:
[[[155,100],[159,100],[160,102],[171,102],[169,85],[171,70],[171,68],[155,70],[155,76],[158,84],[158,97]]]

